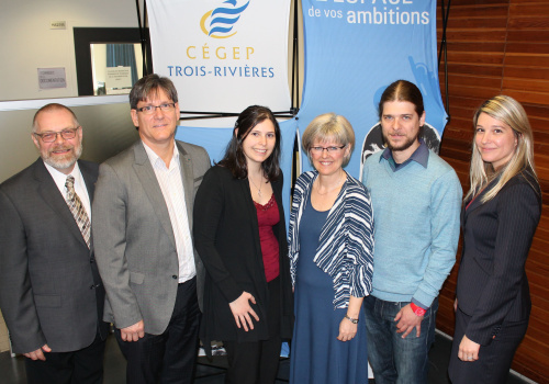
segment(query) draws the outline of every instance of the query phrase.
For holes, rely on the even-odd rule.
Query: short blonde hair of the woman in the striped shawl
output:
[[[334,140],[339,145],[349,145],[349,155],[344,158],[343,167],[349,163],[350,155],[352,154],[352,149],[355,149],[355,131],[352,131],[352,125],[350,125],[347,118],[330,112],[316,116],[309,124],[301,138],[301,144],[311,163],[313,163],[311,147],[313,147],[316,140],[321,143]]]

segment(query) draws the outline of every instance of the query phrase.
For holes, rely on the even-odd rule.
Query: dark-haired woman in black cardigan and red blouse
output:
[[[206,347],[222,340],[225,383],[274,383],[281,338],[290,338],[293,297],[282,210],[280,128],[253,105],[238,116],[224,158],[194,202],[194,244],[204,262]]]

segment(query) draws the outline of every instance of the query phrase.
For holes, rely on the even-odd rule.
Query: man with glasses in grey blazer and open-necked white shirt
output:
[[[210,158],[175,139],[179,104],[169,79],[144,77],[130,104],[141,139],[101,165],[93,205],[105,320],[127,360],[127,383],[190,383],[204,278],[192,203]]]

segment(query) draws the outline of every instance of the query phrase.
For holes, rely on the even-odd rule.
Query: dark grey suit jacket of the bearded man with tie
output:
[[[78,163],[91,201],[98,165]],[[103,302],[93,247],[38,159],[0,185],[0,307],[13,351],[88,347],[98,324],[107,336]]]

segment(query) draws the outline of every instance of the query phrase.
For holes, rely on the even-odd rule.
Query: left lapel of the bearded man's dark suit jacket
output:
[[[68,230],[80,241],[82,245],[88,248],[86,240],[76,224],[75,216],[70,213],[70,210],[65,201],[65,197],[59,192],[59,189],[55,184],[52,174],[49,174],[46,166],[42,159],[38,159],[35,162],[34,176],[38,181],[38,193],[44,200],[45,204],[48,205],[52,211],[54,211],[59,219],[67,226]]]

